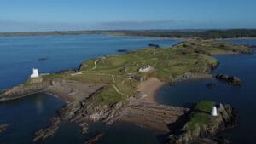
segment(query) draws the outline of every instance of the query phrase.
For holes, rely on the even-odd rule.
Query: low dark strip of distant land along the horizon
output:
[[[256,29],[228,30],[117,30],[117,31],[66,31],[66,32],[0,32],[0,37],[15,36],[47,36],[47,35],[79,35],[79,34],[110,34],[116,36],[137,37],[171,37],[202,39],[256,37]]]

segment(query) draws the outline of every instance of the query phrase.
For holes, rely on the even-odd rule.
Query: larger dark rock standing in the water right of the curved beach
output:
[[[215,78],[218,79],[219,81],[227,82],[230,85],[237,85],[237,86],[241,85],[241,79],[237,78],[235,76],[229,76],[229,75],[225,75],[225,74],[218,74],[218,75],[215,76]]]

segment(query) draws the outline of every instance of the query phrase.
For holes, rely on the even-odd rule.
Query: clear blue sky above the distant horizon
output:
[[[255,0],[0,0],[0,32],[256,28]]]

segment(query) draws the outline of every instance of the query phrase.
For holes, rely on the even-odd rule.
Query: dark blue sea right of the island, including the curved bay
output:
[[[230,40],[229,43],[256,45],[256,40]],[[255,50],[255,49],[254,49]],[[256,54],[215,55],[220,65],[212,74],[224,73],[242,79],[241,87],[234,87],[215,79],[197,80],[164,86],[158,91],[160,103],[189,106],[192,102],[209,100],[228,103],[239,112],[238,127],[225,130],[222,135],[230,137],[232,143],[256,143]],[[207,83],[214,82],[216,88],[208,89]]]

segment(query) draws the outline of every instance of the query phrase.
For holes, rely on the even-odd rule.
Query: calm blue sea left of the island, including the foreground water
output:
[[[148,43],[162,47],[180,40],[148,37],[112,37],[104,35],[0,37],[0,90],[26,82],[32,68],[39,72],[59,72],[77,68],[84,60],[101,55],[117,54],[117,49],[140,49]],[[39,58],[47,58],[38,61]],[[65,101],[51,95],[30,95],[26,98],[0,103],[0,124],[10,124],[0,135],[0,144],[31,143],[35,130],[44,127]],[[159,143],[162,132],[135,124],[117,123],[111,127],[92,124],[90,133],[80,134],[78,124],[61,124],[54,137],[38,143],[79,144],[96,132],[105,135],[99,143]]]

